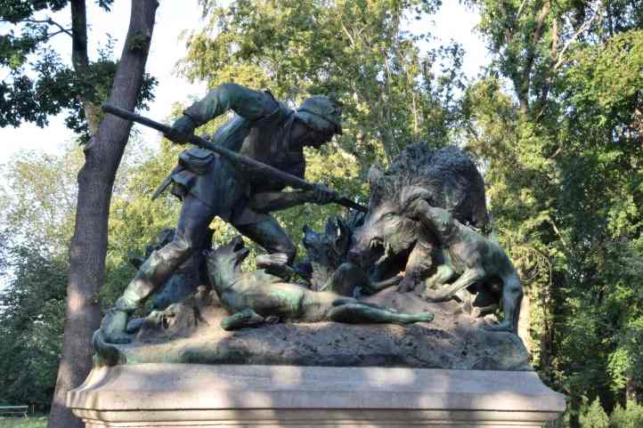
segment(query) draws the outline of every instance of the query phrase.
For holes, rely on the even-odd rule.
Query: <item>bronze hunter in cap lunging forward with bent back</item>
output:
[[[166,136],[177,143],[188,142],[195,128],[229,110],[236,114],[212,135],[212,143],[300,178],[305,173],[304,147],[320,148],[342,133],[341,108],[330,97],[310,97],[292,110],[269,92],[224,84],[185,109]],[[183,201],[175,237],[142,263],[102,320],[102,333],[109,343],[130,342],[126,325],[131,314],[200,248],[216,216],[265,248],[268,254],[257,258],[257,264],[287,271],[297,247],[268,213],[338,199],[337,193],[321,184],[313,190],[282,192],[284,182],[244,170],[208,149],[183,151],[167,184]]]

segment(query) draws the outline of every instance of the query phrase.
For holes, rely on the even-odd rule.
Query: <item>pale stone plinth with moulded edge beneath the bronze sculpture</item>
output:
[[[139,364],[94,368],[67,406],[86,428],[535,428],[565,399],[526,371]]]

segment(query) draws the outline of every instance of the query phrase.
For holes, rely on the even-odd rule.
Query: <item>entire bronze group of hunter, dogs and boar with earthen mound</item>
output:
[[[342,366],[349,351],[352,365],[384,358],[385,365],[530,369],[517,337],[520,279],[488,236],[483,177],[462,150],[417,142],[386,170],[371,166],[365,207],[304,180],[303,148],[342,133],[332,97],[315,95],[293,110],[271,93],[226,84],[171,127],[104,109],[199,148],[183,151],[155,193],[169,188],[182,200],[179,221],[137,262],[94,335],[102,364]],[[209,139],[194,136],[229,110],[235,116]],[[295,190],[283,191],[287,185]],[[297,259],[297,237],[270,213],[304,203],[349,210],[324,230],[305,226],[306,254]],[[211,245],[215,217],[244,238]],[[242,267],[250,254],[244,239],[265,250],[255,269]]]

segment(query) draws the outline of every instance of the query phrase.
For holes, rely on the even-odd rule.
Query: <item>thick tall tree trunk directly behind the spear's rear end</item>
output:
[[[110,103],[122,109],[133,110],[141,90],[157,6],[157,0],[132,2],[126,44],[110,93]],[[77,178],[76,225],[69,246],[62,357],[48,428],[83,426],[65,407],[65,397],[83,383],[92,367],[92,334],[101,321],[98,290],[105,274],[111,192],[131,125],[108,115],[85,146],[85,166]]]

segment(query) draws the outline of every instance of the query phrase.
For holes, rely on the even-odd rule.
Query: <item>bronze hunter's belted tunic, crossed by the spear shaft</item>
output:
[[[211,141],[304,178],[303,149],[289,149],[294,111],[276,101],[271,93],[235,84],[219,85],[184,114],[196,125],[203,125],[231,109],[236,114],[212,135]],[[185,159],[187,162],[180,162],[171,174],[172,192],[179,198],[186,194],[199,198],[226,222],[252,222],[252,215],[243,213],[248,198],[256,193],[284,188],[281,182],[233,166],[207,149],[186,150],[182,154],[182,160]]]

